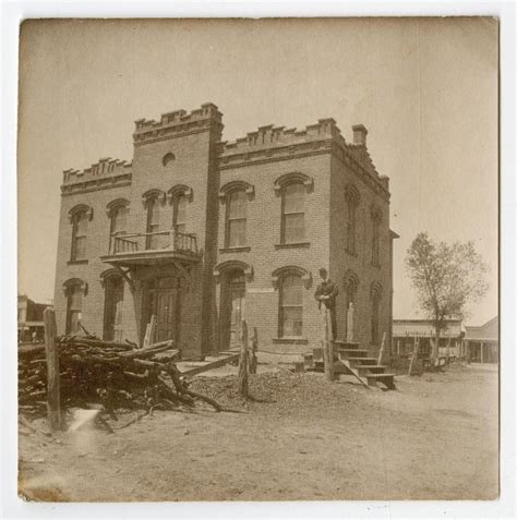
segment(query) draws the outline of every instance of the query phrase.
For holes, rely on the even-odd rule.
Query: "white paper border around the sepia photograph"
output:
[[[515,518],[515,2],[14,2],[1,5],[2,155],[0,204],[2,258],[2,479],[3,518]],[[17,46],[21,21],[33,17],[299,17],[299,16],[491,15],[500,20],[500,479],[493,501],[303,501],[303,503],[26,503],[16,489],[16,132]]]

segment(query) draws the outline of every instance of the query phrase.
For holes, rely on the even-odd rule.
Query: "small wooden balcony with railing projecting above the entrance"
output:
[[[109,253],[100,259],[107,264],[132,268],[156,264],[193,264],[199,262],[197,238],[179,231],[113,234]]]

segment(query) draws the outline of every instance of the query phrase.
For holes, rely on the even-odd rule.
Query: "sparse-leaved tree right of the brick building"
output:
[[[420,307],[433,321],[435,337],[431,367],[434,370],[445,321],[462,319],[466,306],[485,294],[488,266],[472,242],[435,243],[428,233],[419,233],[412,241],[406,266],[417,289]]]

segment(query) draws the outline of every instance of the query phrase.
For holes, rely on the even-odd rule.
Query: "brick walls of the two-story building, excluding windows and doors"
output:
[[[180,279],[175,295],[170,337],[185,356],[197,358],[227,350],[229,341],[228,283],[244,275],[249,327],[256,327],[260,348],[269,352],[305,352],[322,338],[322,321],[314,299],[318,268],[324,266],[339,288],[337,336],[346,334],[345,286],[352,273],[358,280],[354,295],[353,339],[371,350],[372,286],[381,288],[380,336],[385,331],[389,348],[392,323],[392,233],[387,178],[373,166],[365,144],[349,144],[332,119],[320,120],[301,131],[264,126],[235,143],[221,142],[221,113],[205,104],[190,113],[163,114],[159,121],[135,122],[131,164],[113,159],[83,171],[67,170],[61,186],[55,307],[58,330],[67,331],[72,286],[82,291],[81,324],[99,336],[106,330],[106,280],[124,276],[119,338],[141,343],[148,316],[146,287],[164,277]],[[172,154],[170,161],[164,158]],[[282,190],[302,183],[304,239],[281,244]],[[359,194],[356,209],[356,251],[347,252],[346,192]],[[232,190],[245,190],[245,243],[228,247],[227,203]],[[175,194],[185,193],[185,231],[195,235],[197,256],[177,254],[169,238],[159,251],[145,251],[144,238],[130,238],[137,250],[125,261],[110,250],[110,207],[123,199],[129,207],[127,233],[145,233],[147,196],[159,199],[159,230],[172,229]],[[85,259],[72,255],[72,215],[88,211]],[[373,223],[380,219],[380,254],[372,264]],[[131,256],[133,255],[133,256]],[[134,262],[134,257],[139,261]],[[129,261],[128,261],[129,258]],[[133,259],[131,259],[133,258]],[[279,282],[284,274],[302,277],[302,330],[297,337],[280,337]],[[171,301],[171,300],[170,300]],[[170,302],[169,301],[169,302]],[[164,312],[159,319],[167,315]],[[108,313],[109,314],[109,313]],[[170,313],[169,313],[170,314]],[[169,332],[165,332],[166,335]]]

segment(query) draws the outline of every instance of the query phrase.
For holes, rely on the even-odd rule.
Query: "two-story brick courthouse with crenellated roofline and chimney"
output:
[[[156,341],[184,356],[227,350],[237,324],[261,348],[318,346],[314,290],[324,266],[339,288],[337,336],[375,348],[392,323],[387,177],[333,119],[267,125],[223,142],[213,104],[135,122],[132,162],[63,172],[55,307],[58,330]]]

